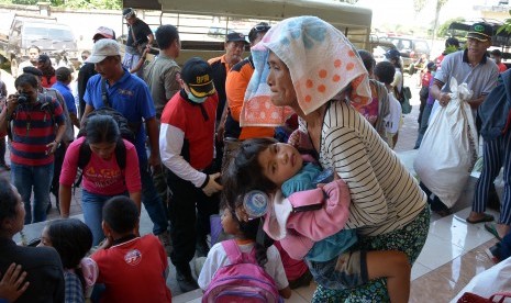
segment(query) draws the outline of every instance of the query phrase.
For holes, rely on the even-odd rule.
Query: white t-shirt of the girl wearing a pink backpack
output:
[[[242,252],[251,252],[254,244],[243,244],[238,245]],[[289,285],[288,278],[286,278],[286,272],[284,271],[282,261],[280,260],[280,255],[275,246],[268,247],[266,250],[268,261],[265,265],[265,271],[275,280],[277,289],[282,290]],[[204,266],[199,274],[197,280],[199,287],[202,290],[205,290],[211,280],[216,273],[216,270],[223,266],[227,266],[231,262],[229,261],[225,249],[223,248],[222,243],[216,243],[211,247],[208,252],[208,258],[205,259]]]

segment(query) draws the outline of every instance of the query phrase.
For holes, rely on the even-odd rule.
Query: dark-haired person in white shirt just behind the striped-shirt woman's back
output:
[[[389,114],[384,119],[387,128],[387,143],[393,149],[398,143],[399,128],[402,123],[402,109],[401,103],[396,99],[392,92],[392,81],[396,74],[396,68],[391,63],[381,61],[375,67],[376,80],[382,82],[389,91]]]

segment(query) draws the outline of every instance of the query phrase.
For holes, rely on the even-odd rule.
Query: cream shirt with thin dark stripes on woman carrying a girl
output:
[[[301,123],[301,130],[307,130]],[[424,210],[426,197],[416,180],[375,128],[345,102],[333,101],[327,106],[319,155],[323,169],[334,168],[349,187],[346,228],[358,228],[358,234],[368,236],[386,234]]]

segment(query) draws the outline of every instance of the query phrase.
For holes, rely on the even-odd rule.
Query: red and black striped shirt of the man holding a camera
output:
[[[11,161],[18,165],[43,166],[53,162],[47,155],[47,144],[55,141],[56,125],[64,124],[60,104],[54,99],[38,94],[35,104],[20,104],[12,113]]]

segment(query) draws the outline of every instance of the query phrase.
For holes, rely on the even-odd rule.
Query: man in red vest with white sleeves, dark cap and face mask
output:
[[[212,167],[219,99],[211,67],[201,58],[191,58],[182,67],[181,78],[182,89],[168,101],[162,114],[159,148],[162,161],[169,169],[167,183],[174,194],[169,205],[174,244],[170,259],[180,289],[188,292],[198,288],[189,262],[196,243],[207,245],[209,217],[219,212],[219,199],[213,193],[222,190],[222,186],[216,182],[220,173]]]

